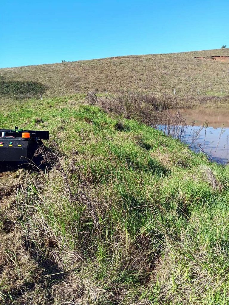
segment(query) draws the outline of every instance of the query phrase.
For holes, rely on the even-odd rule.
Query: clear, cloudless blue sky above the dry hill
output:
[[[228,13],[228,0],[2,0],[0,67],[229,46]]]

